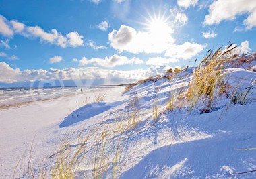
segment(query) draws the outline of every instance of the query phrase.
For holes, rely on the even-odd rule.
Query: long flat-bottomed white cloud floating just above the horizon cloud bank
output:
[[[94,64],[94,66],[115,67],[124,64],[143,64],[143,60],[135,57],[129,59],[126,56],[120,56],[117,54],[110,57],[106,56],[104,59],[92,58],[88,60],[86,57],[82,57],[82,59],[79,60],[79,66],[86,66],[88,64]]]

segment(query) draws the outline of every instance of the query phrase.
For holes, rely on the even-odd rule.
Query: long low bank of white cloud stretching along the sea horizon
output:
[[[24,70],[13,69],[4,62],[0,62],[0,82],[34,82],[44,80],[63,80],[79,81],[90,80],[90,84],[124,84],[128,82],[137,82],[143,78],[154,76],[162,68],[150,67],[148,70],[104,70],[99,68],[65,68],[49,70]],[[79,83],[81,84],[81,83]],[[89,84],[89,85],[90,85]],[[81,84],[82,85],[82,84]]]

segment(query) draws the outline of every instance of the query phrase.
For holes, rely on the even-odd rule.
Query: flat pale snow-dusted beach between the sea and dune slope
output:
[[[78,92],[55,99],[50,96],[49,99],[1,107],[0,178],[12,178],[15,166],[22,159],[28,159],[28,154],[23,154],[30,149],[32,160],[38,163],[54,154],[63,136],[73,129],[73,126],[59,127],[65,117],[79,107],[95,101],[99,94],[105,94],[104,100],[108,102],[121,100],[124,88],[91,88],[84,89],[83,93],[79,88]]]

